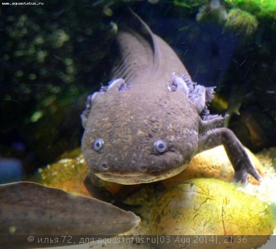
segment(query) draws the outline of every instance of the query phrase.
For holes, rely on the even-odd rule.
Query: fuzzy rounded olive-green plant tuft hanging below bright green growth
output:
[[[257,29],[257,18],[250,13],[233,8],[228,12],[225,28],[234,30],[239,35],[250,36]]]

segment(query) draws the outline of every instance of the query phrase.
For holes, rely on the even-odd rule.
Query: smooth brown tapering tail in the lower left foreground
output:
[[[79,243],[79,237],[55,243],[47,239],[43,246],[37,237],[108,238],[127,232],[140,222],[134,213],[110,203],[31,182],[0,185],[0,210],[0,248],[9,249],[72,246]],[[33,240],[27,240],[30,234]]]

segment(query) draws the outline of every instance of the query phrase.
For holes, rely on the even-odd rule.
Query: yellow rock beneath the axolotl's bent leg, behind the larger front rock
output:
[[[252,154],[248,149],[246,149],[248,156],[257,169],[257,172],[261,176],[264,176],[262,170],[262,163]],[[163,181],[166,187],[171,185],[175,185],[175,183],[179,183],[181,181],[186,181],[192,178],[217,178],[223,181],[231,182],[233,181],[234,169],[224,147],[218,146],[214,149],[209,149],[207,151],[203,151],[190,161],[190,164],[183,172],[173,176],[171,178],[165,179]],[[248,175],[248,183],[259,184],[253,176]]]

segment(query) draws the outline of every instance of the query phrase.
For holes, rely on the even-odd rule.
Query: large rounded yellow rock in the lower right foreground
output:
[[[166,190],[152,209],[151,231],[172,235],[244,235],[246,243],[235,243],[231,248],[258,248],[275,228],[272,207],[238,190],[233,183],[197,178]],[[183,244],[172,243],[170,248],[181,246]],[[202,248],[202,244],[198,246],[187,248]],[[227,246],[229,244],[204,244],[204,248]]]

